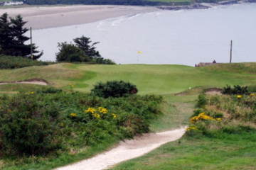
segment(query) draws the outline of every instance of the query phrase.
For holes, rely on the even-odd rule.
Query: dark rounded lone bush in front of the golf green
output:
[[[107,81],[106,83],[98,83],[91,90],[95,96],[108,97],[124,97],[131,94],[137,94],[138,90],[134,84],[124,81]]]

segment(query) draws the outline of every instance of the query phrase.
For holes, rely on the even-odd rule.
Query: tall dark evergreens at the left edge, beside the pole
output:
[[[31,45],[25,44],[27,40],[30,40],[30,38],[25,35],[28,31],[28,29],[24,27],[25,24],[26,21],[23,21],[23,18],[20,15],[15,18],[10,18],[10,21],[7,13],[4,13],[0,17],[0,28],[2,28],[0,29],[0,35],[5,35],[3,38],[1,36],[1,54],[31,57]],[[39,51],[36,49],[36,45],[32,44],[33,60],[36,60],[43,55],[43,52],[38,54]]]

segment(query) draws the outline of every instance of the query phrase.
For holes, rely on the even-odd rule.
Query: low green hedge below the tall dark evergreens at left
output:
[[[53,62],[41,62],[37,60],[31,60],[25,57],[0,55],[0,69],[18,69],[22,67],[48,64],[53,64]]]

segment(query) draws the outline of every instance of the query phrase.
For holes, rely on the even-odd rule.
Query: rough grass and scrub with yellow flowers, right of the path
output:
[[[206,98],[206,105],[196,109],[191,117],[187,135],[225,137],[256,130],[256,94]]]

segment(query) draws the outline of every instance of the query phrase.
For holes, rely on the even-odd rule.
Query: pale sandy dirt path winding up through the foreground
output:
[[[101,170],[107,169],[124,162],[128,159],[140,157],[143,154],[150,152],[166,142],[178,140],[185,132],[185,128],[170,130],[166,132],[149,133],[141,137],[136,137],[134,140],[120,142],[117,147],[108,152],[98,154],[90,159],[85,159],[81,162],[63,166],[55,170]]]

